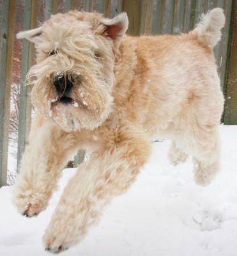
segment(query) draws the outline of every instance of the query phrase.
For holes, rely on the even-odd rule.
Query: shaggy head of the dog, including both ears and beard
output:
[[[20,32],[17,38],[36,47],[36,65],[27,74],[33,106],[65,131],[102,124],[112,108],[114,54],[127,28],[126,13],[105,19],[69,12]]]

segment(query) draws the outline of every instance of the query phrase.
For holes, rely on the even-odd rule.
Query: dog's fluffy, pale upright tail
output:
[[[206,15],[202,14],[201,22],[188,35],[192,39],[201,41],[204,46],[213,48],[220,40],[220,29],[224,27],[225,21],[223,10],[215,8]]]

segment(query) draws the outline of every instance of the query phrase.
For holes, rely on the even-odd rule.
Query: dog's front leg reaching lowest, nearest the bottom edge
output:
[[[45,250],[61,252],[79,243],[100,217],[103,206],[121,195],[134,182],[151,153],[144,134],[130,131],[103,154],[92,154],[79,166],[63,191],[61,200],[43,237]]]

